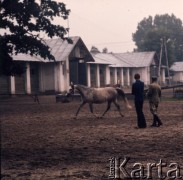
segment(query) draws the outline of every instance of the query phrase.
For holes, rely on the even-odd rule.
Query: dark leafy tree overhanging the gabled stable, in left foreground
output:
[[[55,17],[67,19],[70,10],[64,3],[51,0],[0,0],[0,74],[17,75],[25,72],[21,63],[14,63],[11,55],[26,53],[54,60],[41,34],[63,40],[68,29],[53,23]],[[71,42],[71,40],[69,41]]]

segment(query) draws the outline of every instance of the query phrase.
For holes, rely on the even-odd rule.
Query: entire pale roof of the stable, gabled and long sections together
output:
[[[78,36],[70,38],[73,41],[72,44],[69,44],[66,40],[64,41],[61,38],[45,40],[45,43],[50,47],[56,62],[65,61],[79,40],[81,40]],[[155,52],[100,53],[99,51],[95,51],[90,53],[94,62],[90,61],[87,63],[106,64],[110,67],[147,67],[154,62],[155,55]],[[90,53],[88,52],[89,55]],[[53,62],[49,59],[43,59],[39,55],[31,56],[30,54],[23,53],[13,55],[12,58],[17,61]]]

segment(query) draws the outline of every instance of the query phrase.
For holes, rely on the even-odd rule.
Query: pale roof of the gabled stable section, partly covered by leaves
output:
[[[79,41],[80,37],[71,37],[73,43],[69,44],[66,40],[61,38],[48,39],[45,43],[50,47],[51,53],[55,57],[56,61],[65,61],[69,54],[72,52],[76,43]],[[30,54],[19,53],[12,56],[13,60],[17,61],[37,61],[37,62],[50,62],[49,59],[43,59],[41,56],[31,56]]]

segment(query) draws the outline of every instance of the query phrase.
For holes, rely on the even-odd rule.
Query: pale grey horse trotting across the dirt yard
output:
[[[80,85],[80,84],[76,84],[76,85],[71,84],[71,88],[72,88],[73,92],[75,92],[77,90],[77,92],[81,95],[81,98],[82,98],[82,103],[80,104],[80,106],[76,112],[75,118],[77,118],[79,111],[86,103],[89,104],[90,112],[94,115],[93,104],[101,104],[104,102],[107,102],[107,108],[104,111],[104,113],[102,114],[102,116],[99,118],[104,117],[104,115],[110,109],[111,103],[113,103],[116,106],[121,117],[124,117],[124,115],[121,113],[120,106],[117,103],[118,95],[122,96],[127,108],[131,109],[131,106],[129,105],[129,102],[125,96],[125,93],[121,88],[118,88],[118,87],[116,87],[116,88],[114,88],[114,87],[90,88],[90,87]],[[94,115],[94,116],[96,117],[96,115]]]

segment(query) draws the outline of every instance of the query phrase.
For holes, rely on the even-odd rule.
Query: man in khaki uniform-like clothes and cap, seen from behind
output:
[[[157,82],[157,77],[152,77],[152,83],[149,85],[147,97],[149,99],[150,111],[153,115],[153,123],[151,127],[159,127],[162,125],[162,122],[157,114],[158,105],[161,97],[161,87]]]

